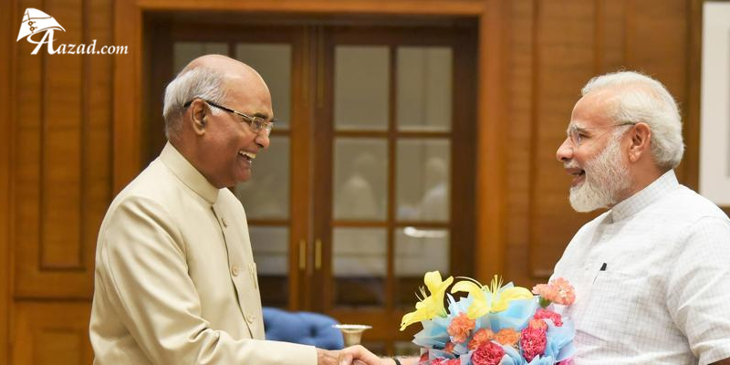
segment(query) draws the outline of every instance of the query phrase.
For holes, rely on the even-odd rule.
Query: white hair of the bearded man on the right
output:
[[[620,90],[610,98],[609,117],[616,121],[644,122],[652,129],[652,156],[657,166],[673,169],[682,161],[682,117],[672,94],[661,82],[634,71],[619,71],[591,78],[583,96],[605,89]]]

